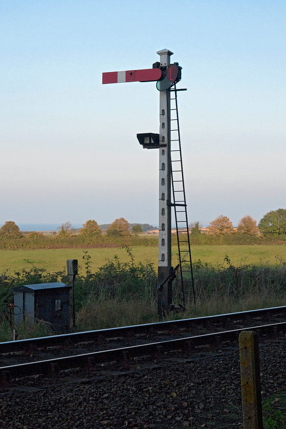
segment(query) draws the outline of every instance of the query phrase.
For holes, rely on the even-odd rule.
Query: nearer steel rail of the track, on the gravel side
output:
[[[164,352],[182,350],[186,348],[193,349],[197,346],[206,344],[220,344],[221,342],[225,341],[238,341],[239,334],[243,330],[256,330],[263,333],[269,331],[285,331],[286,322],[252,326],[223,332],[208,333],[205,335],[183,339],[84,353],[74,356],[66,356],[64,358],[56,358],[26,364],[10,365],[6,367],[0,367],[0,378],[2,378],[3,382],[5,382],[5,380],[10,378],[22,378],[36,374],[51,375],[71,368],[88,369],[94,368],[94,365],[122,361],[130,358],[138,358],[139,356],[144,355],[162,354]]]

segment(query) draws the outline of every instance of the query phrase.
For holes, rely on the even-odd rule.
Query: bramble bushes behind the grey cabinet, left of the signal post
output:
[[[79,266],[79,275],[75,278],[76,309],[79,310],[86,304],[90,295],[97,299],[147,299],[151,302],[157,287],[157,274],[154,265],[134,263],[131,250],[127,247],[130,261],[121,262],[115,255],[113,259],[99,268],[96,273],[90,270],[90,255],[88,251],[83,253],[83,267]],[[29,270],[22,269],[9,275],[4,272],[0,275],[0,305],[13,302],[11,288],[22,284],[36,284],[62,281],[68,283],[65,271],[50,273],[44,268],[34,266],[33,262],[26,259],[31,265]]]

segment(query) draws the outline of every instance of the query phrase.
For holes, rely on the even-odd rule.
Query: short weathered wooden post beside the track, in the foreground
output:
[[[241,386],[244,429],[263,429],[258,337],[240,333]]]

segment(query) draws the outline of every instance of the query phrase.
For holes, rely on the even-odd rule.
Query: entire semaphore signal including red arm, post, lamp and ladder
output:
[[[181,143],[178,119],[176,83],[181,80],[182,67],[178,63],[171,64],[170,57],[173,52],[168,49],[158,51],[160,61],[153,64],[153,68],[142,70],[111,71],[102,74],[102,83],[124,82],[153,82],[160,92],[159,106],[159,134],[137,134],[140,145],[147,149],[159,150],[159,244],[158,244],[158,313],[163,316],[170,309],[183,309],[179,304],[172,303],[172,282],[176,278],[176,271],[180,267],[182,300],[185,305],[183,289],[182,263],[189,263],[193,285],[193,299],[195,301],[192,260],[190,257],[189,232],[186,212],[185,188],[183,179],[183,165],[181,156]],[[173,88],[174,89],[171,89]],[[178,89],[185,90],[185,89]],[[175,97],[171,98],[171,91]],[[171,103],[175,105],[172,107]],[[172,113],[174,116],[172,117]],[[171,128],[172,124],[172,128]],[[171,149],[172,143],[172,149]],[[171,189],[172,185],[172,189]],[[172,194],[173,190],[173,194]],[[171,202],[173,195],[173,202]],[[174,207],[177,241],[179,250],[179,264],[172,267],[171,252],[171,208]],[[187,240],[180,239],[179,227],[185,228]],[[187,250],[182,249],[187,246]],[[185,270],[187,271],[187,270]]]

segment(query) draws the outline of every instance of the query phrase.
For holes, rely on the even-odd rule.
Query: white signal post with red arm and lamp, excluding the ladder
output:
[[[137,134],[139,143],[147,149],[159,150],[159,244],[158,244],[158,313],[164,316],[172,304],[172,281],[175,278],[171,251],[171,87],[181,78],[178,63],[170,64],[173,52],[158,51],[160,61],[144,70],[103,73],[102,83],[157,81],[159,90],[159,134]]]

